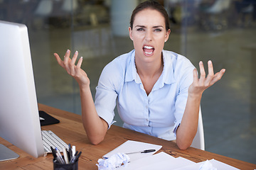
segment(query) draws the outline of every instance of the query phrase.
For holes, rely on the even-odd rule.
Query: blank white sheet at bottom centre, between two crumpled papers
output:
[[[121,166],[118,169],[119,170],[121,169],[122,170],[155,170],[155,169],[171,170],[181,166],[188,166],[191,164],[196,164],[196,163],[181,157],[174,158],[174,157],[171,157],[171,155],[169,154],[160,152],[159,154],[154,154],[150,157],[144,157],[134,162],[130,162],[127,164],[127,166],[125,167]]]

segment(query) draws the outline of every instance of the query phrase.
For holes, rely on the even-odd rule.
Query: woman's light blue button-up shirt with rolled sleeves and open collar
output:
[[[134,50],[115,58],[103,69],[96,87],[95,107],[109,127],[114,123],[117,106],[124,128],[176,140],[195,67],[175,52],[162,53],[164,69],[149,95],[137,74]]]

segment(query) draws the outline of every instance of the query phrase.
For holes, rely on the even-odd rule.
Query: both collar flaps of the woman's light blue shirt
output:
[[[166,54],[165,50],[162,50],[163,60],[164,60],[164,69],[159,77],[159,86],[164,86],[164,84],[172,84],[175,82],[174,79],[174,67],[171,60],[171,56]],[[124,81],[135,81],[137,84],[142,83],[139,75],[137,74],[137,69],[135,66],[135,50],[129,52],[129,63],[127,64],[127,72],[125,74]]]

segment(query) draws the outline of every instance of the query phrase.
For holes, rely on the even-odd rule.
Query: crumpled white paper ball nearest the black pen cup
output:
[[[108,159],[99,159],[96,165],[98,166],[98,170],[113,170],[122,164],[126,166],[128,162],[129,157],[127,154],[117,153],[113,154]]]

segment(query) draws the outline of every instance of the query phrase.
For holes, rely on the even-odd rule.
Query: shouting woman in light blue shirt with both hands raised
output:
[[[198,79],[195,67],[186,57],[163,50],[170,33],[169,16],[163,6],[156,1],[139,4],[129,27],[134,50],[117,57],[103,69],[95,103],[90,80],[80,69],[82,57],[75,65],[78,52],[70,59],[68,50],[63,61],[54,54],[58,64],[78,81],[82,123],[93,145],[102,142],[114,123],[116,105],[124,128],[176,140],[180,149],[191,145],[203,91],[221,79],[225,69],[214,74],[209,61],[206,77],[203,62],[199,62],[201,77]]]

